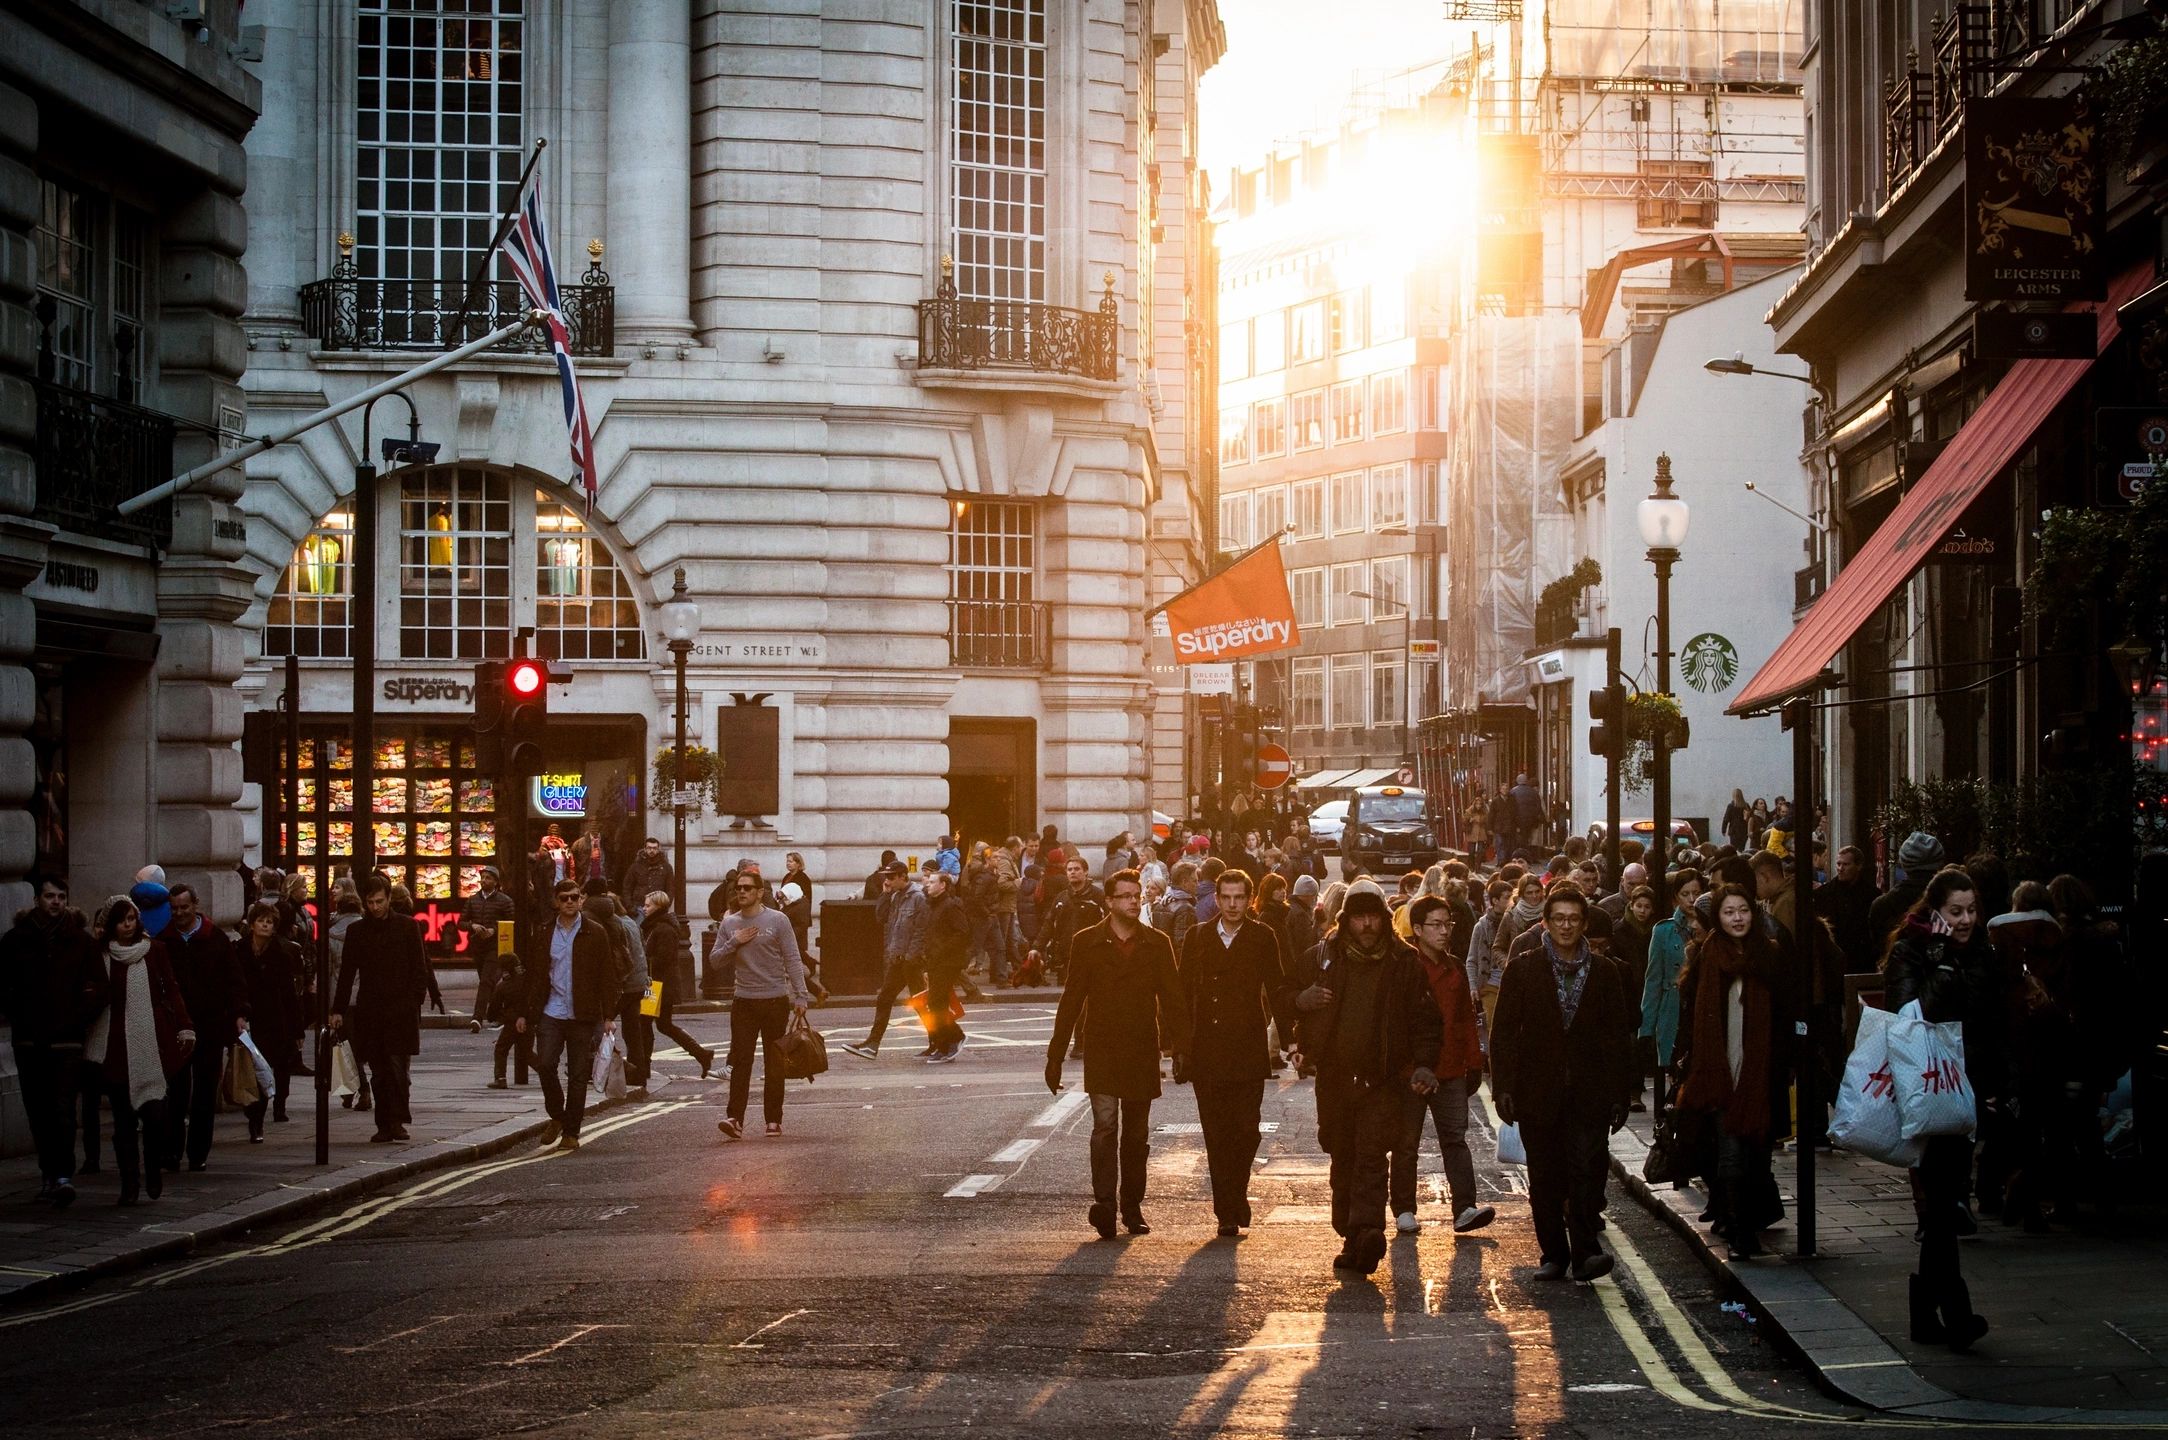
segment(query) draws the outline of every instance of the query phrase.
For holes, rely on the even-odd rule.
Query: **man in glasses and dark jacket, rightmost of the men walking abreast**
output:
[[[1611,1154],[1633,1087],[1628,1008],[1617,969],[1587,941],[1589,902],[1572,883],[1544,896],[1544,941],[1515,954],[1498,985],[1492,1095],[1528,1149],[1528,1210],[1544,1262],[1537,1280],[1596,1280],[1611,1256],[1596,1240]]]

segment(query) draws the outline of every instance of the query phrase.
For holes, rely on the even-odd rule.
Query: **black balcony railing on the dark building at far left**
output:
[[[173,421],[89,390],[37,384],[37,510],[82,536],[173,544],[173,503],[115,514],[130,494],[173,479]]]

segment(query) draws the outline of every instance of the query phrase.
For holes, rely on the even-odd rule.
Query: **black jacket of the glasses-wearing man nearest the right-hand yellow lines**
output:
[[[1492,1015],[1492,1095],[1531,1126],[1609,1123],[1633,1087],[1633,1024],[1617,967],[1589,956],[1567,1030],[1541,948],[1507,961]]]

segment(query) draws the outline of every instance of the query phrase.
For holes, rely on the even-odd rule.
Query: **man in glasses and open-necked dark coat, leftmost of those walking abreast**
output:
[[[1138,920],[1145,883],[1134,870],[1106,880],[1106,920],[1069,941],[1062,1002],[1047,1041],[1047,1089],[1062,1089],[1062,1056],[1077,1024],[1088,1030],[1084,1093],[1091,1095],[1091,1225],[1114,1238],[1114,1208],[1130,1234],[1145,1223],[1145,1162],[1151,1156],[1151,1102],[1160,1097],[1160,1041],[1184,1073],[1190,1006],[1175,969],[1175,948]],[[1262,1060],[1262,1052],[1260,1052]]]

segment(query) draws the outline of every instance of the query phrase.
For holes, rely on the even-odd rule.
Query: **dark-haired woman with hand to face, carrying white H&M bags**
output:
[[[1919,1000],[1934,1024],[1964,1026],[1964,1078],[1975,1104],[2003,1110],[2010,1093],[2010,982],[1986,926],[1973,876],[1945,867],[1927,880],[1882,956],[1888,1008]],[[1971,1219],[1973,1136],[1938,1134],[1919,1165],[1919,1273],[1912,1275],[1912,1338],[1966,1349],[1988,1334],[1958,1271],[1958,1234]]]

